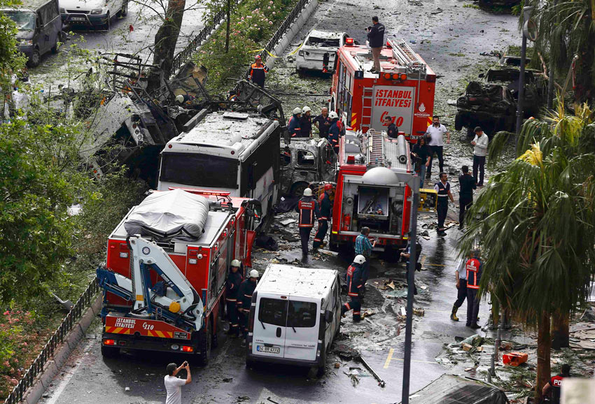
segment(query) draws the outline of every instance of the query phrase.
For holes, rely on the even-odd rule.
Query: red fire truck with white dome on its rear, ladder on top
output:
[[[363,226],[377,248],[404,247],[412,190],[397,173],[412,173],[409,142],[386,132],[347,131],[339,140],[339,170],[332,207],[330,247],[353,245]]]

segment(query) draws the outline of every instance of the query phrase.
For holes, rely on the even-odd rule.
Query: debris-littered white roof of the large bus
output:
[[[169,140],[163,152],[239,154],[260,138],[266,127],[279,122],[258,114],[217,111],[207,114],[190,131]]]

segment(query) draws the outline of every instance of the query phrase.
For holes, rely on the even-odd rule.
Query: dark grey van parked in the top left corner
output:
[[[62,41],[62,21],[58,0],[25,0],[18,6],[2,8],[17,25],[19,50],[27,56],[27,64],[38,66],[41,56],[57,52]]]

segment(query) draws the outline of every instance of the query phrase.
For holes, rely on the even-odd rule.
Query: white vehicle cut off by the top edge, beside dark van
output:
[[[59,0],[62,22],[109,29],[114,16],[128,13],[128,0]]]

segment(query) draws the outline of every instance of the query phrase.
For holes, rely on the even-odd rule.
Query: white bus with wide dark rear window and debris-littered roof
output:
[[[279,196],[278,120],[204,109],[161,152],[158,190],[201,189],[256,199],[266,216]]]

